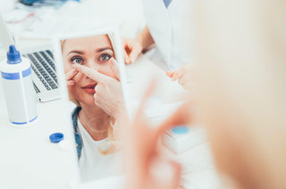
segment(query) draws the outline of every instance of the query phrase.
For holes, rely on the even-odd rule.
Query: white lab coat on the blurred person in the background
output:
[[[156,42],[154,61],[164,70],[174,70],[194,62],[194,32],[191,0],[142,0],[147,26]]]

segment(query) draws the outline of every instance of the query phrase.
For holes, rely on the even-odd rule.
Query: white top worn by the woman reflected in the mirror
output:
[[[82,181],[90,181],[106,176],[120,175],[122,172],[122,161],[119,152],[101,154],[100,150],[110,147],[108,138],[94,141],[87,130],[78,119],[79,133],[82,139],[82,150],[80,154],[80,176]]]

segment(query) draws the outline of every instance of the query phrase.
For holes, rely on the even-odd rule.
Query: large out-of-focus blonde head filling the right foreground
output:
[[[194,2],[198,102],[237,188],[286,188],[286,1]]]

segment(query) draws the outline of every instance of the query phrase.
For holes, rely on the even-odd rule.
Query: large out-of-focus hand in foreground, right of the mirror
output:
[[[128,162],[126,162],[127,188],[178,188],[181,179],[181,165],[160,154],[157,142],[160,135],[166,130],[175,125],[190,123],[189,103],[178,108],[162,125],[154,127],[143,115],[144,105],[151,92],[152,87],[147,90],[133,124],[127,129],[127,141],[125,142],[128,158]]]

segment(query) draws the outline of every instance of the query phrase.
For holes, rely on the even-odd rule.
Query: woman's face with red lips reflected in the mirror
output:
[[[107,35],[92,36],[80,39],[66,39],[62,45],[64,73],[71,71],[72,64],[82,64],[95,69],[109,77],[115,78],[108,61],[114,57],[114,48]],[[69,87],[71,96],[87,105],[95,105],[94,93],[97,81],[93,81],[83,73],[77,73],[73,79],[75,84]]]

